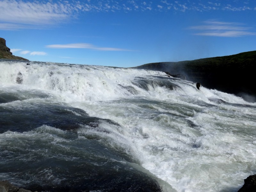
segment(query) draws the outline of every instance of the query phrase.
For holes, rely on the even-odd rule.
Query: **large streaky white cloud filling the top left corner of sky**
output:
[[[78,3],[76,3],[78,4]],[[65,21],[78,10],[68,2],[0,0],[0,29],[31,28]]]

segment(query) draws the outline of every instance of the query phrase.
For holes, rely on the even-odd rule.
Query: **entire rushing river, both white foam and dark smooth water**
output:
[[[216,192],[255,173],[256,103],[164,72],[0,60],[0,180]]]

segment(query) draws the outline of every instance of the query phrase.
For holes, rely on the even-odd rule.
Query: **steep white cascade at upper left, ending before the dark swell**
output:
[[[161,72],[131,68],[69,65],[57,63],[0,61],[1,84],[53,91],[64,100],[108,100],[131,95],[122,86],[135,87],[135,76],[159,75]],[[122,85],[122,86],[119,86]]]

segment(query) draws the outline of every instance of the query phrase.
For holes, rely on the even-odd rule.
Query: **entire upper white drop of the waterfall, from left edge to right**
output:
[[[154,76],[166,77],[165,73],[160,71],[31,61],[28,64],[21,61],[0,61],[0,85],[19,85],[21,89],[23,87],[52,92],[58,94],[65,102],[113,100],[134,95],[157,100],[173,100],[177,96],[186,95],[208,103],[212,103],[208,98],[218,98],[231,103],[251,104],[240,97],[209,90],[203,86],[197,90],[194,82],[178,78],[163,80],[165,83],[172,82],[178,86],[170,90],[166,86],[154,83]],[[145,78],[142,84],[145,84],[148,90],[134,84],[136,77]],[[153,84],[147,84],[147,80]]]

